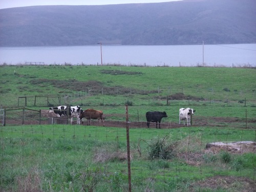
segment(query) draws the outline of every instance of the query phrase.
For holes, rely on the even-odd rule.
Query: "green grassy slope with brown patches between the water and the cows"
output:
[[[153,100],[167,104],[167,96],[170,101],[256,100],[255,69],[2,66],[0,75],[3,107],[15,107],[18,97],[35,95],[60,96],[62,102],[70,96],[70,103],[87,105],[120,105],[127,99],[135,105],[152,104]],[[34,102],[28,105],[33,106]]]

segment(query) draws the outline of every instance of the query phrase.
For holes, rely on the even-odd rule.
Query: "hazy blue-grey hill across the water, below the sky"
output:
[[[0,10],[0,46],[256,42],[255,0],[185,0]]]

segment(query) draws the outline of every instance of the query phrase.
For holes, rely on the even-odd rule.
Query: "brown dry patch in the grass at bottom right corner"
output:
[[[228,191],[255,192],[256,183],[244,177],[214,176],[191,184],[189,191],[199,191],[198,188],[203,188],[204,191],[206,188],[211,190],[222,188]]]

